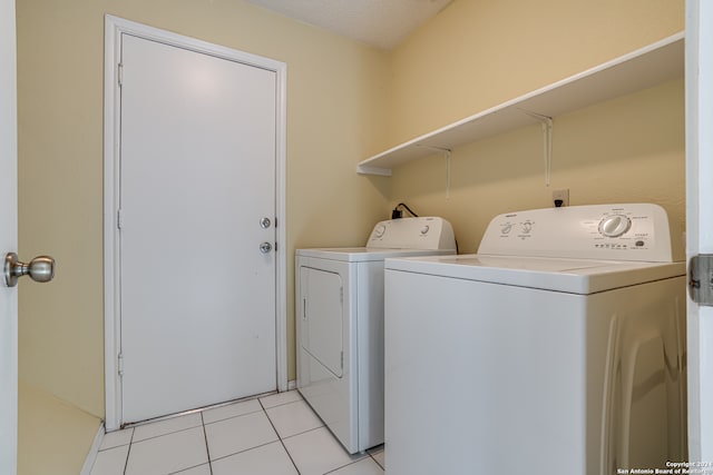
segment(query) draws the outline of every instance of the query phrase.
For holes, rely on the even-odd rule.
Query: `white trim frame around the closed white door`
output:
[[[284,62],[213,44],[195,38],[172,33],[118,17],[105,17],[104,50],[104,356],[105,356],[105,424],[107,431],[123,423],[121,379],[118,355],[121,348],[119,299],[119,59],[121,34],[177,46],[232,61],[255,66],[276,75],[275,135],[275,350],[277,390],[287,390],[287,259],[286,259],[286,97],[287,66]]]

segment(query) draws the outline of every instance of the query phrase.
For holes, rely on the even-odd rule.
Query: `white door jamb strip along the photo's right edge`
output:
[[[686,1],[686,253],[713,254],[713,3]],[[713,307],[688,299],[688,457],[713,462]]]

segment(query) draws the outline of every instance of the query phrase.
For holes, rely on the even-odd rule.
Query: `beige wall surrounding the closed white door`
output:
[[[20,251],[58,263],[20,290],[20,377],[99,416],[105,13],[287,63],[287,256],[363,243],[387,208],[385,181],[354,174],[384,140],[385,53],[237,0],[18,2]]]

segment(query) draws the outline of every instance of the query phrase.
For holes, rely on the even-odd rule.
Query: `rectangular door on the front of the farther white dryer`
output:
[[[302,347],[334,376],[343,369],[342,277],[329,270],[300,268]]]

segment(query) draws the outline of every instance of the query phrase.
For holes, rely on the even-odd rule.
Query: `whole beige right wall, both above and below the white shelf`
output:
[[[683,29],[683,0],[455,0],[392,52],[389,146]],[[394,169],[389,198],[448,218],[461,253],[476,251],[497,214],[550,206],[559,188],[572,205],[657,202],[683,225],[683,81],[556,117],[550,187],[539,125],[461,147],[451,160],[450,199],[442,156]]]

